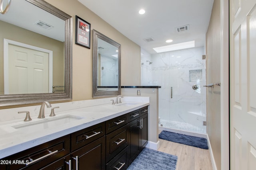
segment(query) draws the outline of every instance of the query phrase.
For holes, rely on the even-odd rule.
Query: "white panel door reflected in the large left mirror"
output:
[[[9,44],[9,94],[48,93],[48,53]]]

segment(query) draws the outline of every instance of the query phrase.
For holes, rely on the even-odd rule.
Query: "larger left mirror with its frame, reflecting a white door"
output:
[[[0,27],[0,106],[71,100],[72,17],[44,0],[18,0]]]

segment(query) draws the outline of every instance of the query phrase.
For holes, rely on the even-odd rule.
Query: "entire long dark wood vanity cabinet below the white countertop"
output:
[[[148,106],[1,160],[1,170],[125,170],[148,143]],[[28,164],[26,164],[28,163]]]

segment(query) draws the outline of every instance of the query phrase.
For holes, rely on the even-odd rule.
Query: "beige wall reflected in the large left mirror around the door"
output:
[[[10,39],[53,51],[53,85],[64,85],[64,43],[55,39],[28,31],[10,23],[0,21],[4,33],[0,33],[0,94],[4,94],[4,40]],[[38,41],[40,39],[40,41]]]

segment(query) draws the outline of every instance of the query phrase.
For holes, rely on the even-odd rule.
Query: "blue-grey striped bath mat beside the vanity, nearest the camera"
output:
[[[178,157],[144,148],[127,170],[176,170]]]

